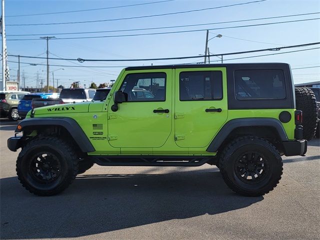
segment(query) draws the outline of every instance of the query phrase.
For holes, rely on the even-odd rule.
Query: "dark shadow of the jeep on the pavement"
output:
[[[50,197],[27,192],[16,177],[3,178],[0,184],[1,239],[85,236],[218,214],[263,199],[233,193],[216,168],[79,175],[68,189]]]

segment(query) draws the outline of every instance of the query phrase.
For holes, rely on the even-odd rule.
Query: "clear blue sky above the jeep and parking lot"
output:
[[[222,6],[228,4],[248,2],[251,0],[173,0],[162,3],[138,5],[123,8],[104,9],[85,12],[74,12],[64,14],[36,15],[9,17],[10,15],[46,13],[57,11],[81,10],[90,8],[100,8],[109,6],[119,6],[151,2],[158,0],[6,0],[5,14],[6,24],[20,23],[45,23],[45,22],[65,22],[65,21],[84,21],[110,18],[132,17],[150,14],[161,14],[167,12],[185,11],[207,7]],[[161,27],[185,24],[212,23],[221,21],[242,20],[259,17],[271,17],[290,14],[301,14],[320,11],[320,1],[318,0],[266,0],[259,3],[250,3],[219,9],[204,10],[176,15],[156,16],[149,18],[82,23],[82,24],[63,24],[63,25],[40,25],[40,26],[6,26],[7,39],[12,38],[38,38],[39,36],[9,36],[12,34],[30,34],[43,33],[43,36],[54,36],[51,33],[76,32],[76,31],[100,31],[100,30],[118,30],[133,29],[145,27]],[[209,26],[181,27],[158,30],[142,30],[134,33],[161,32],[174,30],[203,29],[213,27],[236,26],[266,22],[288,21],[306,18],[320,17],[320,14],[276,18],[268,20],[256,20],[248,22],[223,23]],[[282,23],[274,25],[253,26],[244,28],[231,28],[210,30],[209,37],[219,33],[221,38],[214,38],[209,41],[210,52],[225,53],[234,51],[245,51],[252,49],[269,48],[276,46],[295,45],[309,42],[320,41],[320,21],[310,20],[292,23]],[[129,34],[133,32],[110,32],[79,35],[60,35],[66,36],[96,36],[96,35],[114,35]],[[55,35],[58,37],[59,35]],[[228,37],[229,36],[229,37]],[[234,39],[230,37],[243,38],[251,41],[260,41],[268,43],[251,42]],[[93,38],[93,39],[56,39],[49,41],[50,57],[68,57],[68,58],[153,58],[153,57],[174,57],[189,56],[204,53],[205,31],[185,32],[176,34],[160,34],[147,36],[126,36],[114,38]],[[273,43],[273,44],[270,44]],[[312,47],[319,47],[315,45]],[[311,47],[300,47],[290,50],[298,50]],[[28,41],[7,41],[7,50],[9,54],[20,54],[30,56],[45,56],[45,40]],[[282,50],[285,51],[285,50]],[[278,51],[279,52],[279,51]],[[262,53],[252,53],[243,55],[233,55],[226,57],[241,57],[257,54],[272,53],[270,51]],[[53,55],[55,54],[55,55]],[[9,57],[10,61],[17,61],[16,57]],[[213,58],[211,60],[218,60]],[[21,62],[45,63],[45,59],[21,58]],[[87,66],[129,66],[129,65],[150,65],[153,64],[171,64],[186,63],[192,61],[203,61],[203,58],[186,60],[161,60],[161,61],[140,61],[140,62],[84,62],[72,63],[65,60],[50,60],[50,64],[75,65],[83,64]],[[273,56],[263,56],[247,59],[230,60],[225,62],[287,62],[291,67],[309,67],[320,65],[320,50],[307,50],[295,53],[279,54]],[[17,64],[9,62],[11,78],[16,78]],[[61,67],[51,66],[51,70]],[[63,67],[64,70],[54,72],[54,77],[59,79],[59,83],[65,86],[73,81],[89,85],[93,80],[96,83],[108,82],[115,79],[120,67],[111,68],[82,68],[82,67]],[[21,64],[25,72],[26,85],[35,86],[36,72],[42,79],[46,79],[46,67],[41,65],[32,66]],[[320,67],[304,68],[292,70],[294,81],[300,83],[303,81],[315,81],[320,78]],[[50,74],[50,81],[52,81]],[[50,83],[52,85],[52,83]]]

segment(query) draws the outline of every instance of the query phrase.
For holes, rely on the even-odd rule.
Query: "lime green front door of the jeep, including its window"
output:
[[[153,148],[162,146],[172,127],[172,69],[127,73],[116,90],[126,102],[112,111],[108,106],[108,140],[111,146]]]

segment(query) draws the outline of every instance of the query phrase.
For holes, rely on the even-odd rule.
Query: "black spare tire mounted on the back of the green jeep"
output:
[[[303,138],[311,140],[317,124],[317,107],[313,91],[307,87],[295,87],[295,105],[302,111]]]

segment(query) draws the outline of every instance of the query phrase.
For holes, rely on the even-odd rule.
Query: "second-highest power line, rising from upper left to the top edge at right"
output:
[[[129,20],[129,19],[137,19],[137,18],[146,18],[146,17],[154,17],[154,16],[166,16],[166,15],[175,15],[175,14],[182,14],[182,13],[189,13],[189,12],[196,12],[196,11],[204,11],[204,10],[218,9],[218,8],[224,8],[224,7],[230,7],[230,6],[237,6],[237,5],[244,5],[244,4],[256,3],[256,2],[261,2],[261,1],[266,1],[266,0],[248,1],[248,2],[230,4],[230,5],[223,5],[223,6],[216,6],[216,7],[207,7],[207,8],[187,10],[187,11],[176,11],[176,12],[167,12],[167,13],[153,14],[153,15],[132,16],[132,17],[112,18],[112,19],[103,19],[103,20],[51,22],[51,23],[23,23],[23,24],[6,24],[6,25],[7,25],[7,26],[38,26],[38,25],[59,25],[59,24],[75,24],[75,23],[92,23],[92,22]]]

